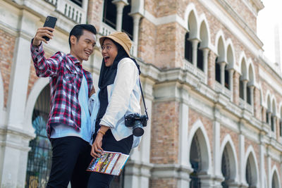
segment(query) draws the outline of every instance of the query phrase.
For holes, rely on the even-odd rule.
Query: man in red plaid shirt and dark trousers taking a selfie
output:
[[[90,123],[88,99],[94,88],[92,76],[82,68],[96,44],[93,25],[75,25],[68,39],[70,54],[56,52],[44,57],[43,38],[52,39],[54,29],[41,27],[30,46],[38,77],[49,77],[51,101],[47,135],[52,145],[51,173],[47,187],[87,187],[91,161],[90,140],[94,127]]]

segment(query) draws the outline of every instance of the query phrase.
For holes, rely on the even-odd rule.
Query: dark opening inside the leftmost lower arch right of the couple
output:
[[[190,188],[201,187],[200,178],[198,174],[201,170],[201,150],[197,134],[192,139],[191,149],[190,149],[190,163],[193,172],[190,173]]]

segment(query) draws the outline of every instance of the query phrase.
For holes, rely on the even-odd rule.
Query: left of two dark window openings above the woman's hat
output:
[[[116,29],[116,5],[104,0],[103,22]]]

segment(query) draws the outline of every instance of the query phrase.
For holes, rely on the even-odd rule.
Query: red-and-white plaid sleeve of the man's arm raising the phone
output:
[[[63,61],[63,54],[61,52],[58,51],[54,56],[45,58],[42,43],[39,46],[33,46],[32,42],[30,44],[30,51],[38,77],[54,77],[58,75],[61,61]]]

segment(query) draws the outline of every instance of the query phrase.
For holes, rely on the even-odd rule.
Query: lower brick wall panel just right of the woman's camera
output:
[[[178,115],[176,101],[153,104],[150,163],[178,163]]]

